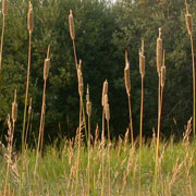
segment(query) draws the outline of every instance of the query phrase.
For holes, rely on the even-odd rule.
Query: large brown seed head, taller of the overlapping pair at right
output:
[[[162,39],[161,39],[161,28],[159,28],[159,37],[157,38],[157,72],[160,74],[161,71],[161,60],[162,60]]]

